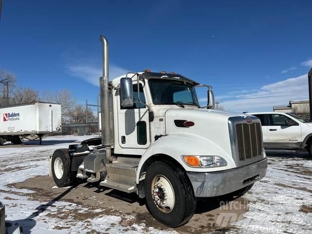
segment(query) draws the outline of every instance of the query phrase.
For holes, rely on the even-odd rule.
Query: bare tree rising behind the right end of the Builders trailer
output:
[[[55,92],[45,91],[41,95],[41,100],[60,104],[62,111],[62,120],[70,120],[71,111],[76,104],[76,100],[73,100],[72,94],[67,89]]]

